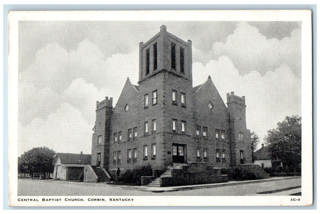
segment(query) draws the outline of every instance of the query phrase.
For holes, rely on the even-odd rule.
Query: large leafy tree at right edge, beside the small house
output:
[[[277,128],[268,131],[264,138],[271,160],[280,160],[284,166],[301,170],[301,117],[286,116]]]

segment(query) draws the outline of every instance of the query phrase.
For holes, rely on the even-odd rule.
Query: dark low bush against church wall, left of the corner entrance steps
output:
[[[114,183],[121,185],[141,185],[141,176],[152,176],[151,165],[139,166],[132,170],[127,170],[121,174]]]

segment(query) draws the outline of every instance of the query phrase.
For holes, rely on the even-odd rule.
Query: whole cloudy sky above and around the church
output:
[[[139,42],[160,26],[192,41],[193,86],[210,75],[246,97],[247,128],[260,137],[301,116],[301,23],[225,21],[20,21],[18,155],[33,147],[91,154],[96,101],[139,75]]]

